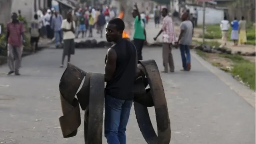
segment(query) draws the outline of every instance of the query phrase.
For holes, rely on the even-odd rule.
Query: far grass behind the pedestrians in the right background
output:
[[[199,28],[202,28],[202,26],[198,26]],[[247,36],[247,43],[246,44],[252,44],[255,45],[255,26],[252,24],[247,24],[246,27],[246,36]],[[231,35],[231,29],[228,30],[228,40],[230,40]],[[202,38],[202,34],[199,36]],[[206,34],[204,35],[204,38],[206,39],[221,39],[222,34],[220,30],[219,24],[214,25],[206,25]],[[231,40],[230,40],[231,41]]]

